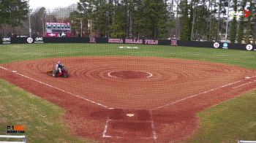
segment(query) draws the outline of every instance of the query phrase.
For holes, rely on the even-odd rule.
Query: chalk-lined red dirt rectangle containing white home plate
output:
[[[102,137],[154,139],[154,122],[146,109],[110,109]]]

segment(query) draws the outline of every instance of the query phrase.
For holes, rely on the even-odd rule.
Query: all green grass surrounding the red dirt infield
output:
[[[139,49],[118,49],[118,44],[0,45],[0,63],[74,56],[133,55],[184,58],[226,63],[256,69],[256,53],[197,47],[129,45]],[[124,46],[124,45],[122,45]],[[25,124],[29,142],[91,142],[79,139],[64,124],[64,109],[0,80],[0,134],[7,125]],[[256,92],[219,104],[198,114],[200,129],[184,142],[236,142],[256,140]],[[59,119],[59,120],[56,120]]]

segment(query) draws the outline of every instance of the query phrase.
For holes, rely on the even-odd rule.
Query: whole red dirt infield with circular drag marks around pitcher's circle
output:
[[[46,71],[61,60],[69,78]],[[86,57],[0,65],[0,77],[67,110],[74,134],[99,142],[170,142],[196,114],[256,87],[256,71],[168,58]]]

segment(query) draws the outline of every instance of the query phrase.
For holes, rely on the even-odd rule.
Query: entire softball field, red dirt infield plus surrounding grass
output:
[[[69,78],[46,74],[57,61]],[[0,45],[0,134],[25,125],[28,142],[256,140],[255,61],[202,47]]]

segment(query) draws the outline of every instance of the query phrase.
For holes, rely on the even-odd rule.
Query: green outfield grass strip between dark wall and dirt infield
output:
[[[140,49],[118,49],[119,44],[1,45],[0,63],[85,55],[134,55],[227,63],[256,69],[256,52],[202,47],[128,45]]]

